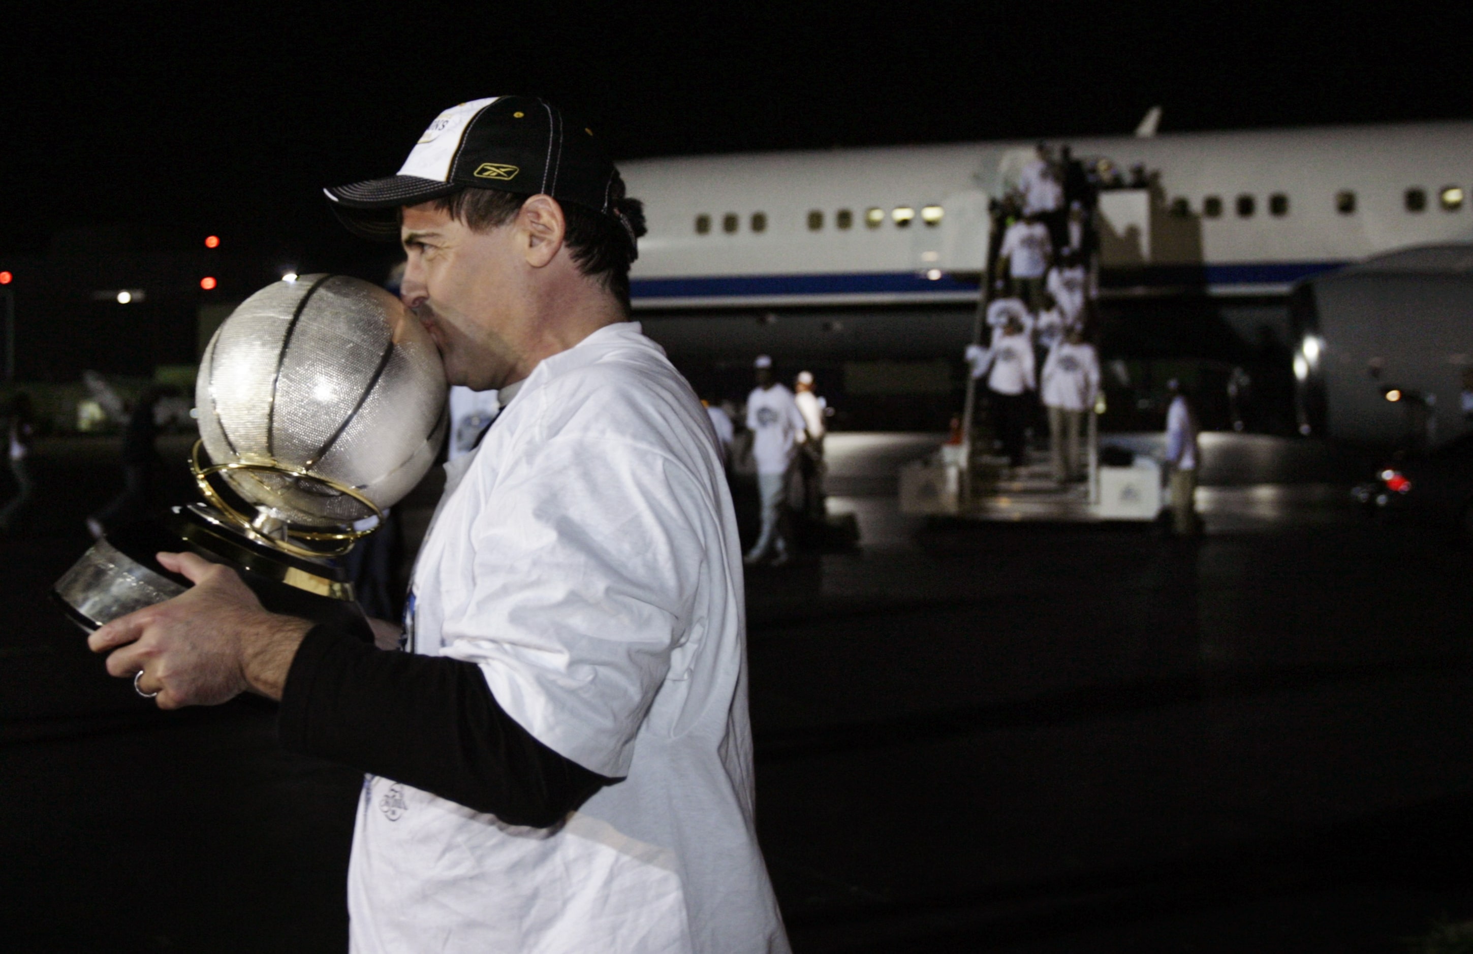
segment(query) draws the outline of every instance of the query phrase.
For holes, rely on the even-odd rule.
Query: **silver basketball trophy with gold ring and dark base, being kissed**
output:
[[[445,370],[418,319],[358,278],[273,283],[211,339],[194,402],[203,502],[109,531],[57,580],[57,602],[91,632],[189,589],[155,554],[193,551],[273,612],[371,639],[333,558],[383,523],[445,437]]]

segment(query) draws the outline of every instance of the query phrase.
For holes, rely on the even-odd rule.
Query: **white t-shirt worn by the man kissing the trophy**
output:
[[[415,652],[622,782],[532,829],[365,779],[351,948],[787,951],[753,829],[741,549],[710,418],[638,324],[542,361],[448,486]]]

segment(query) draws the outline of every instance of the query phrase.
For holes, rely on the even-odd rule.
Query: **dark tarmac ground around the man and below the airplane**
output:
[[[1255,436],[1205,439],[1196,542],[903,517],[934,443],[832,434],[859,548],[748,573],[795,951],[1405,951],[1473,919],[1473,554],[1365,520],[1361,461]],[[37,471],[0,539],[4,950],[345,950],[358,774],[281,752],[270,704],[109,679],[47,590],[116,442]]]

